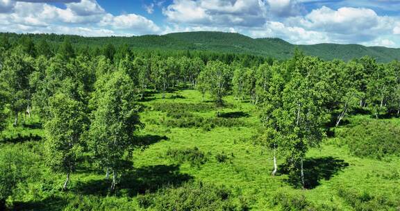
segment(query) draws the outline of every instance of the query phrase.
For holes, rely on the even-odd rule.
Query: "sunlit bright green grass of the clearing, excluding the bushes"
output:
[[[174,97],[177,95],[180,97]],[[162,99],[161,96],[154,94],[149,96],[153,100],[142,103],[147,108],[151,108],[153,103],[201,103],[201,94],[195,90],[168,93],[166,99]],[[288,174],[271,176],[272,152],[253,145],[252,137],[257,133],[259,124],[256,108],[250,103],[235,101],[233,96],[227,96],[225,100],[228,106],[219,112],[227,115],[222,118],[231,118],[233,121],[240,119],[247,123],[247,126],[219,126],[210,130],[168,128],[157,124],[160,118],[171,118],[167,117],[167,112],[145,109],[141,118],[146,126],[140,131],[140,135],[149,139],[150,146],[143,151],[134,152],[134,169],[122,177],[115,195],[108,195],[109,184],[104,181],[104,173],[91,167],[90,162],[85,162],[78,172],[72,175],[69,192],[60,192],[63,175],[53,174],[44,163],[38,163],[36,168],[42,171],[41,176],[31,178],[28,184],[20,185],[8,200],[8,204],[15,205],[16,210],[85,210],[94,208],[93,204],[97,205],[99,210],[144,210],[138,203],[138,194],[151,194],[168,185],[179,187],[190,180],[224,185],[231,190],[233,201],[246,201],[251,210],[284,210],[285,205],[279,203],[279,200],[274,201],[279,194],[301,196],[303,198],[299,200],[306,200],[319,210],[357,210],[349,200],[338,194],[340,189],[379,194],[394,201],[399,200],[397,196],[400,195],[400,159],[392,157],[374,160],[355,157],[338,137],[329,137],[319,149],[312,149],[307,154],[313,168],[309,171],[306,169],[306,177],[315,180],[313,182],[316,182],[316,185],[313,188],[294,188]],[[203,118],[215,118],[217,110],[190,113]],[[349,124],[335,130],[351,127],[353,123],[367,118],[369,117],[362,115],[350,117],[347,119]],[[33,117],[27,124],[37,126],[39,119]],[[17,134],[20,134],[19,137],[31,134],[42,137],[43,130],[39,126],[10,126],[3,136],[17,139]],[[43,140],[26,141],[38,145],[35,147],[35,153],[41,155],[40,146]],[[15,147],[25,146],[24,142],[3,140],[0,143],[14,144]],[[1,147],[0,145],[0,149]],[[208,158],[200,167],[165,156],[171,149],[185,150],[195,147]],[[228,160],[219,162],[216,155],[220,154],[226,154]],[[279,159],[278,161],[278,164],[283,162]],[[289,200],[288,203],[297,203],[293,201]],[[396,205],[390,209],[399,210]]]

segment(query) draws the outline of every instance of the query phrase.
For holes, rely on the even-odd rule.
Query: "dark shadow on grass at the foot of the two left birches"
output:
[[[122,175],[116,194],[125,193],[128,196],[136,196],[137,194],[153,193],[162,187],[181,185],[188,180],[192,180],[192,176],[181,174],[179,166],[176,164],[141,167],[126,171]],[[77,191],[79,194],[106,196],[109,194],[110,185],[110,180],[90,180],[78,184]]]

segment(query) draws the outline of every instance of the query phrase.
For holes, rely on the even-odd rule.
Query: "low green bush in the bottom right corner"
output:
[[[400,210],[399,199],[390,199],[385,195],[372,195],[343,188],[338,189],[338,195],[356,211]]]

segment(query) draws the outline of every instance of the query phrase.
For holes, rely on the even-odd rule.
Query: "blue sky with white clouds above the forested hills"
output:
[[[400,0],[0,0],[0,31],[83,36],[224,31],[400,48]]]

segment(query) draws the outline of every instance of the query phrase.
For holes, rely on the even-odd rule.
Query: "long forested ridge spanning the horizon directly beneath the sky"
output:
[[[14,33],[6,34],[10,40],[16,40]],[[372,56],[380,62],[400,59],[400,49],[385,47],[365,47],[358,44],[314,44],[295,45],[278,38],[253,39],[239,33],[222,32],[188,32],[167,35],[142,35],[134,37],[81,37],[76,35],[28,35],[33,40],[47,40],[56,44],[63,42],[65,36],[76,45],[103,46],[127,44],[138,49],[215,51],[219,53],[246,53],[257,56],[272,57],[280,60],[290,58],[294,49],[299,47],[310,56],[324,60],[351,60],[363,56]]]

